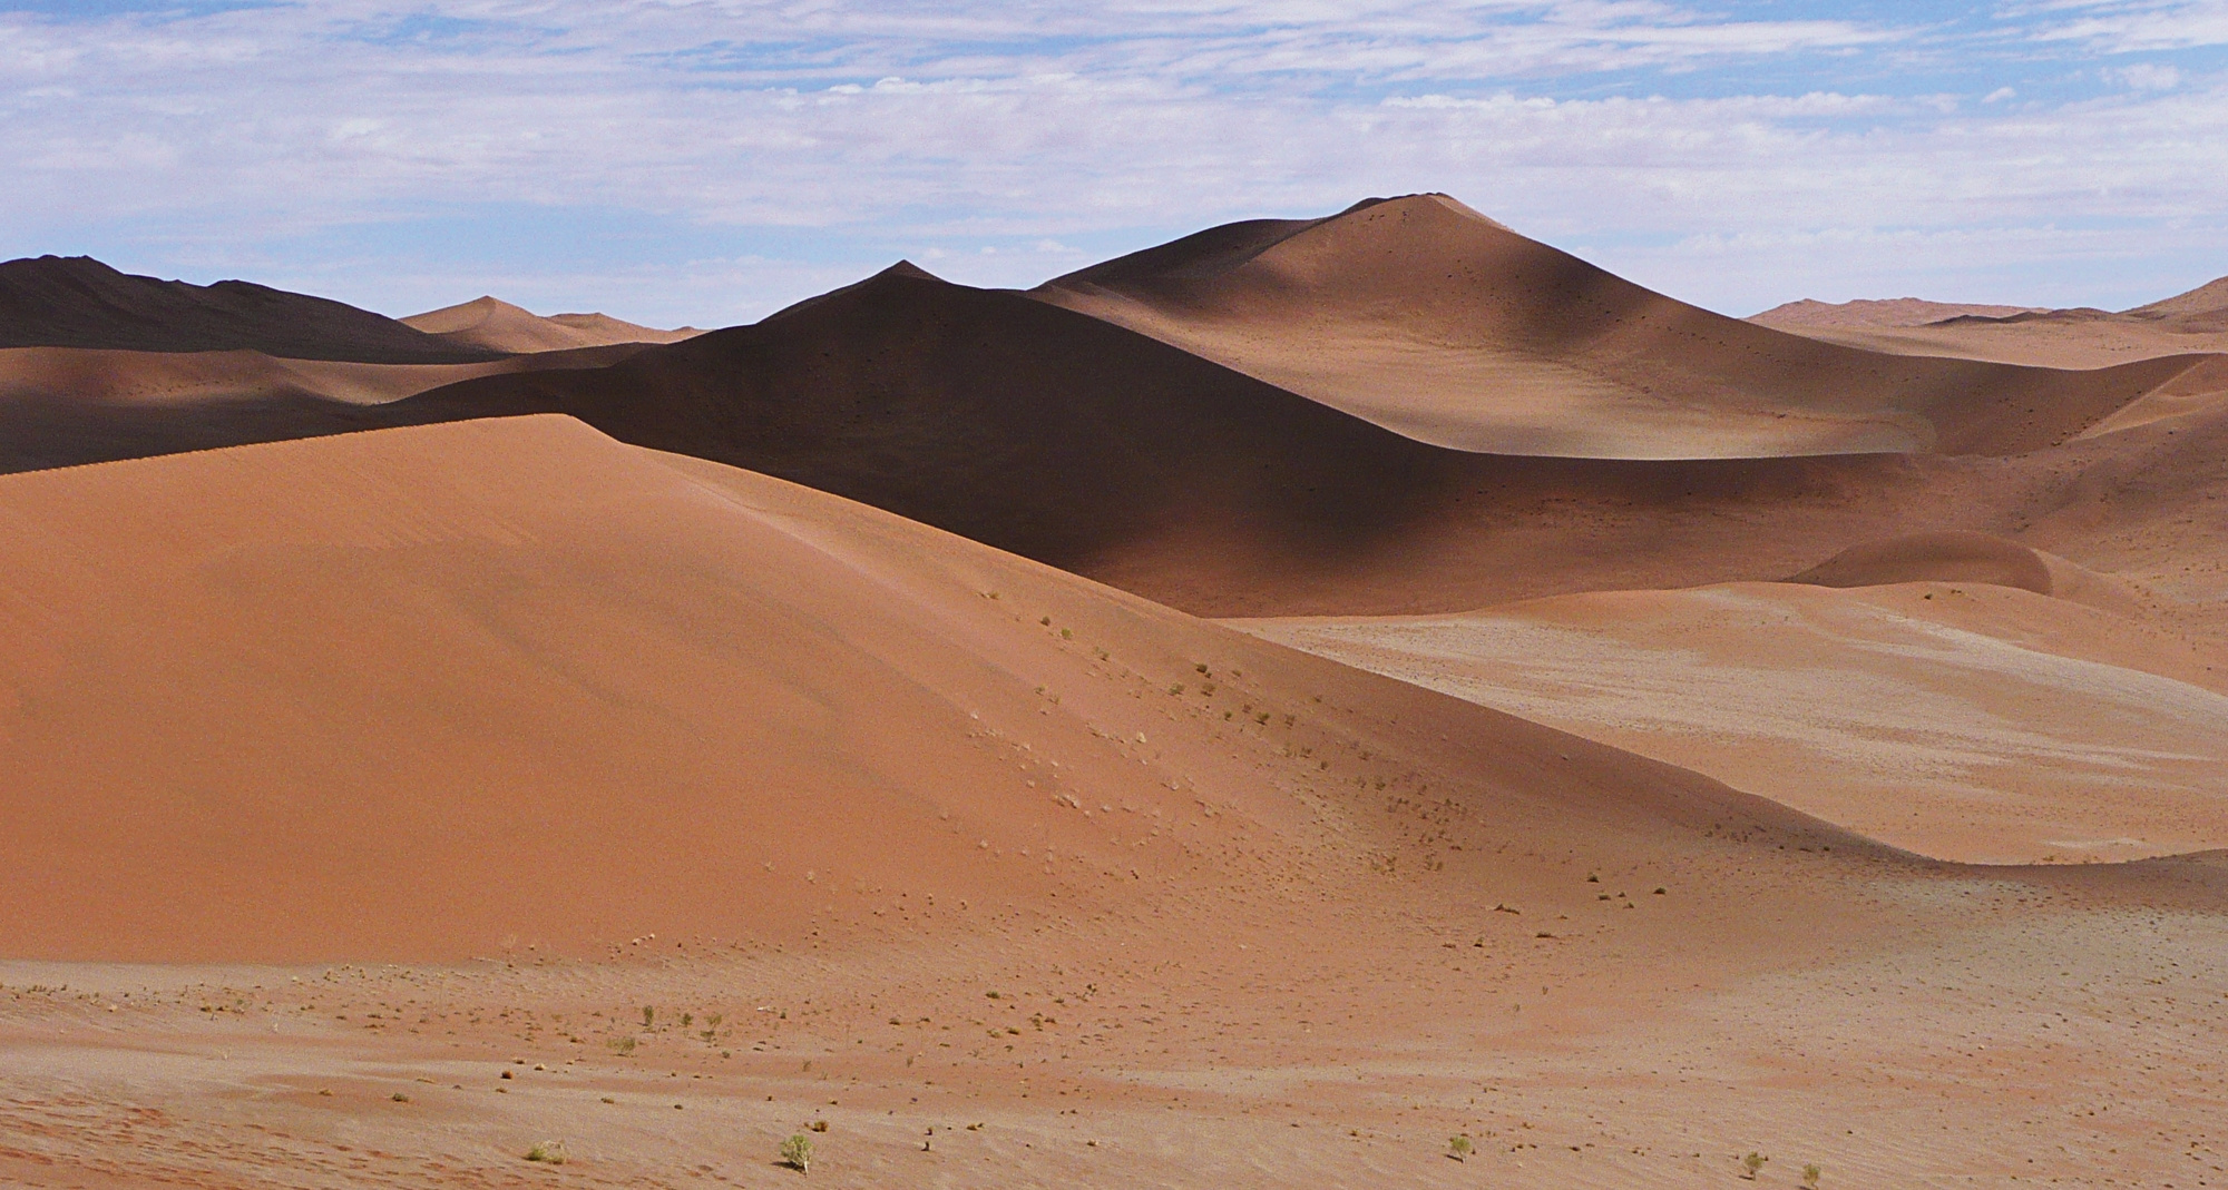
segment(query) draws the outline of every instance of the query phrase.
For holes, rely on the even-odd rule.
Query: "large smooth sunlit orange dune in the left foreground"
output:
[[[1361,813],[1372,784],[1577,856],[1557,865],[1758,833],[1865,854],[1682,769],[570,419],[7,477],[0,559],[18,958],[1087,916],[1361,874],[1408,829]]]

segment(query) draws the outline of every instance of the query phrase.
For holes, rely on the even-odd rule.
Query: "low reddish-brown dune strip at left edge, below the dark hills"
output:
[[[0,472],[385,426],[372,406],[468,377],[599,368],[639,345],[483,363],[345,363],[263,352],[0,348]]]

